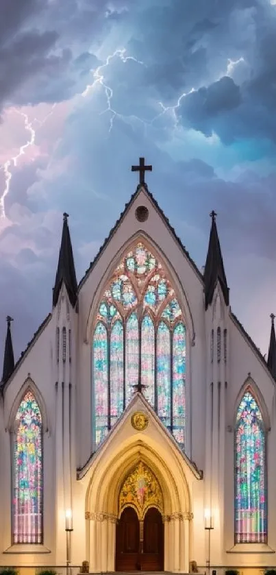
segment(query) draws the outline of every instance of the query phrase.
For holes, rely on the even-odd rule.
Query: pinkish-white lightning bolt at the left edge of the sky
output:
[[[38,123],[39,127],[41,127],[49,118],[49,116],[51,116],[51,114],[53,114],[53,110],[55,108],[56,104],[54,103],[50,112],[45,116],[45,118],[43,120],[38,120],[37,118],[34,118],[34,120],[29,121],[29,117],[25,112],[22,112],[21,110],[14,110],[16,112],[16,114],[19,114],[19,116],[24,118],[24,124],[25,124],[25,130],[26,132],[29,132],[29,138],[27,139],[27,142],[25,144],[23,144],[20,148],[18,153],[16,154],[16,156],[13,156],[12,158],[10,158],[10,160],[7,160],[3,166],[0,169],[3,169],[3,172],[5,174],[5,188],[3,191],[3,194],[0,198],[0,217],[5,218],[5,197],[7,197],[9,191],[10,191],[10,182],[12,180],[12,169],[15,168],[17,166],[17,162],[19,160],[19,158],[21,158],[21,156],[23,156],[25,154],[25,151],[27,148],[31,147],[34,145],[35,140],[36,140],[36,130],[34,128],[34,123]]]

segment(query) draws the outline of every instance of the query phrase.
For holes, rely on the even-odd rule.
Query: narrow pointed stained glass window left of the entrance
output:
[[[13,448],[13,542],[42,543],[42,419],[32,391],[18,407]]]

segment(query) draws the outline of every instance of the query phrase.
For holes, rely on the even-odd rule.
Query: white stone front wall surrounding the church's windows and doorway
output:
[[[135,211],[139,205],[149,209],[145,223],[136,220]],[[90,271],[79,293],[79,313],[68,303],[66,290],[60,293],[58,306],[40,336],[10,382],[0,400],[0,565],[64,564],[66,560],[65,518],[68,507],[73,509],[72,554],[73,564],[90,559],[91,545],[96,546],[92,536],[93,527],[88,529],[85,512],[90,510],[91,489],[103,477],[101,465],[108,473],[108,461],[122,456],[122,446],[134,450],[137,446],[135,432],[125,414],[119,426],[114,428],[108,447],[90,461],[91,443],[91,341],[95,322],[95,311],[101,293],[110,273],[119,260],[138,240],[144,241],[158,256],[171,276],[179,304],[184,312],[187,327],[187,411],[188,440],[187,455],[203,470],[203,480],[192,475],[188,463],[160,428],[153,415],[151,426],[140,435],[152,450],[152,458],[159,455],[178,482],[179,492],[186,477],[190,494],[190,509],[193,519],[185,529],[179,527],[180,541],[184,546],[185,560],[182,564],[171,557],[172,570],[187,568],[187,561],[195,560],[205,565],[208,553],[208,537],[204,529],[204,510],[211,509],[214,530],[211,537],[212,565],[273,565],[275,555],[269,548],[255,549],[255,554],[229,553],[234,546],[234,420],[238,399],[245,382],[250,382],[258,393],[264,413],[267,432],[268,461],[268,511],[274,511],[276,501],[276,458],[275,458],[275,383],[262,361],[244,338],[236,321],[225,307],[223,295],[217,286],[212,306],[205,312],[203,282],[179,247],[166,223],[155,210],[151,199],[143,191],[129,206],[125,218],[116,233],[110,238],[103,253]],[[60,359],[56,356],[56,329],[60,329]],[[66,357],[62,358],[62,328],[66,328]],[[221,328],[221,360],[217,361],[217,329]],[[227,356],[223,343],[223,332],[227,329]],[[71,332],[71,352],[68,350],[68,333]],[[214,330],[213,360],[211,358],[211,337]],[[250,376],[248,375],[250,373]],[[22,397],[23,390],[30,385],[42,410],[44,424],[45,457],[45,541],[43,548],[29,548],[26,554],[6,552],[11,546],[11,429],[12,417]],[[213,408],[211,409],[213,405]],[[144,406],[145,407],[145,406]],[[211,415],[212,414],[212,415]],[[128,421],[128,422],[127,422]],[[123,435],[122,435],[123,434]],[[136,434],[137,435],[137,434]],[[141,439],[142,438],[142,439]],[[170,443],[171,442],[171,443]],[[108,445],[108,443],[107,443]],[[145,445],[142,449],[146,449]],[[89,463],[86,465],[86,462]],[[95,463],[96,462],[96,463]],[[104,467],[104,465],[105,467]],[[156,464],[157,465],[157,464]],[[76,469],[84,468],[76,477]],[[110,467],[112,469],[112,467]],[[115,469],[115,467],[114,467]],[[160,472],[162,473],[162,466]],[[111,473],[111,471],[110,471]],[[182,474],[182,475],[181,475]],[[181,478],[182,477],[182,478]],[[95,487],[96,489],[96,487]],[[166,486],[169,489],[169,486]],[[184,504],[179,513],[187,511]],[[268,545],[276,549],[276,517],[268,513]],[[109,528],[101,529],[101,553],[104,555],[104,538],[109,537]],[[183,530],[184,529],[184,530]],[[166,527],[168,531],[168,527]],[[182,533],[183,532],[183,533]],[[185,532],[185,537],[184,537]],[[175,532],[176,533],[176,532]],[[178,533],[178,531],[177,531]],[[171,537],[173,537],[171,535]],[[180,537],[180,535],[179,535]],[[173,539],[172,539],[173,540]],[[183,543],[185,541],[185,543]],[[95,547],[97,548],[97,547]],[[253,548],[251,547],[251,550]],[[12,550],[10,550],[12,551]],[[34,553],[36,551],[36,553]],[[47,552],[49,551],[49,552]],[[237,551],[235,549],[235,551]],[[43,553],[42,553],[43,552]],[[178,551],[175,551],[178,553]],[[170,554],[172,551],[170,551]],[[102,570],[103,563],[94,565]],[[108,566],[112,559],[108,559]],[[174,565],[174,567],[173,567]]]

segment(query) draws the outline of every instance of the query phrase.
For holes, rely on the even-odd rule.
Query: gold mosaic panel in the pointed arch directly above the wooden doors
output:
[[[159,482],[149,467],[140,461],[123,483],[119,498],[120,511],[134,506],[142,519],[149,506],[163,511],[163,498]]]

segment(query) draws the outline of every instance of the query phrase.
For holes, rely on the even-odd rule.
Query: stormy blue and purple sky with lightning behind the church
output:
[[[2,0],[0,332],[51,310],[62,228],[78,279],[136,189],[139,156],[190,255],[217,224],[231,308],[262,353],[276,311],[276,5]]]

